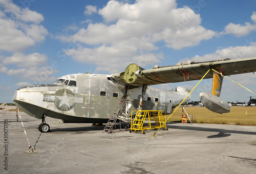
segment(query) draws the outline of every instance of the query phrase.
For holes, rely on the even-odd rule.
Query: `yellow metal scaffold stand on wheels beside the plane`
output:
[[[136,115],[133,119],[133,112],[136,112]],[[144,130],[146,129],[153,129],[153,128],[162,128],[164,127],[166,130],[168,128],[166,127],[166,112],[161,111],[161,110],[142,110],[142,111],[133,111],[131,113],[131,128],[130,128],[130,133],[132,131],[137,132],[137,130],[142,131],[143,134],[145,134]],[[164,115],[163,115],[164,113]],[[151,118],[154,118],[154,121],[156,125],[152,126],[151,125]],[[147,126],[144,125],[145,118],[148,118],[148,124]]]

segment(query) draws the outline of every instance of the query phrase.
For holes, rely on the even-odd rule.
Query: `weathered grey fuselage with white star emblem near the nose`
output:
[[[164,110],[180,104],[189,90],[163,91],[147,87],[143,110]],[[38,119],[44,115],[65,122],[105,123],[120,98],[132,99],[127,113],[136,110],[142,87],[129,88],[103,74],[71,74],[51,84],[23,86],[16,90],[14,103],[25,113]],[[190,96],[185,102],[190,100]]]

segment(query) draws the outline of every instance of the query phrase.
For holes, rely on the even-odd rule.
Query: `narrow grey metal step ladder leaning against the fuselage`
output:
[[[129,100],[120,99],[117,102],[113,112],[111,113],[111,117],[110,117],[109,121],[106,123],[102,133],[107,132],[108,134],[110,134],[113,132],[113,126],[116,124],[116,120],[121,116],[123,107],[125,106],[125,103],[127,101],[129,101]]]

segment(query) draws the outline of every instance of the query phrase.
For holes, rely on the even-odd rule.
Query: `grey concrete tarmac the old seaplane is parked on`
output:
[[[40,133],[41,120],[19,114],[38,152],[26,153],[16,112],[0,111],[0,173],[256,173],[256,126],[169,123],[150,137],[47,117],[51,132]]]

